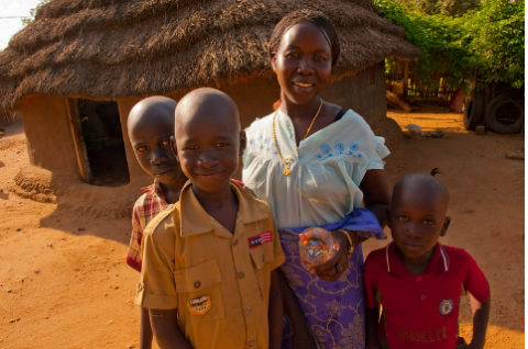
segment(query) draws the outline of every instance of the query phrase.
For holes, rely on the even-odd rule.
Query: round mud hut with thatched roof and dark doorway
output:
[[[301,8],[324,12],[342,42],[323,98],[380,128],[384,58],[420,52],[370,0],[53,0],[0,53],[0,109],[21,111],[32,165],[135,196],[148,179],[127,137],[134,103],[211,86],[234,99],[243,127],[271,113],[279,89],[267,41]]]

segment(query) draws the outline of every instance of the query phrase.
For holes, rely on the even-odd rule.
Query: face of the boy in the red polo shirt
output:
[[[419,191],[399,191],[396,196],[389,215],[393,240],[403,258],[427,262],[450,223],[446,216],[447,199]]]

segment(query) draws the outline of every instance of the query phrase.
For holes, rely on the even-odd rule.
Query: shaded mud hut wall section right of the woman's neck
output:
[[[385,64],[374,65],[373,76],[366,67],[351,77],[328,85],[321,93],[323,100],[352,109],[374,127],[387,114],[385,100]],[[373,80],[373,81],[371,81]]]

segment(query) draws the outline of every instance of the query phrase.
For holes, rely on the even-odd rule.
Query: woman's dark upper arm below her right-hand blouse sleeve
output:
[[[376,216],[382,228],[387,225],[391,207],[391,190],[385,170],[367,170],[360,183],[365,209]]]

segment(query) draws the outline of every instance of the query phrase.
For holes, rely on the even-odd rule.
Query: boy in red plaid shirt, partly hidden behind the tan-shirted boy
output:
[[[170,149],[174,135],[176,102],[162,95],[148,97],[132,108],[129,114],[129,138],[140,166],[154,178],[154,183],[142,188],[132,213],[132,235],[127,263],[141,272],[141,241],[143,229],[157,213],[179,200],[187,177]],[[151,348],[152,329],[148,311],[142,308],[140,348]]]

